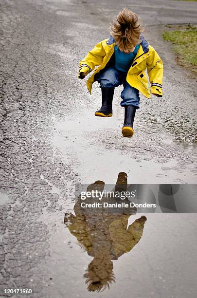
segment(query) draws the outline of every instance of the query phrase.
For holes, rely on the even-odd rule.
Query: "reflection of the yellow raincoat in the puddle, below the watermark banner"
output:
[[[75,208],[75,212],[78,210]],[[79,209],[80,210],[80,209]],[[82,211],[82,210],[80,210]],[[72,214],[65,220],[72,233],[85,247],[88,254],[95,257],[97,251],[107,254],[111,260],[117,260],[129,252],[141,239],[145,216],[128,226],[130,215],[110,215],[101,213],[98,218],[86,218],[83,214]],[[103,220],[103,221],[101,221]]]

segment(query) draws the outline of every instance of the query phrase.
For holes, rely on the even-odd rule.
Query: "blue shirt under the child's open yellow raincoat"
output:
[[[121,72],[128,72],[129,68],[131,67],[131,64],[133,60],[135,59],[135,56],[140,48],[140,45],[137,44],[135,47],[135,50],[132,53],[125,54],[124,52],[121,52],[119,50],[119,47],[117,45],[114,46],[114,53],[115,53],[115,65],[114,68],[121,71]]]

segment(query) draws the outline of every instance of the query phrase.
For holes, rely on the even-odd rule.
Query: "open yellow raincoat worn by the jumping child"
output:
[[[143,36],[142,36],[143,37]],[[88,55],[80,61],[81,66],[87,66],[89,72],[91,72],[95,66],[98,66],[93,75],[87,80],[87,86],[91,94],[91,87],[94,82],[94,75],[99,73],[105,68],[107,62],[114,53],[115,40],[112,37],[104,39],[99,42],[88,53]],[[144,71],[147,68],[149,81],[151,83],[150,92],[156,93],[159,97],[162,96],[162,77],[163,77],[163,64],[160,56],[151,47],[148,42],[142,38],[140,48],[137,55],[128,70],[126,81],[130,86],[138,89],[147,98],[150,98],[150,92],[148,89],[148,78]]]

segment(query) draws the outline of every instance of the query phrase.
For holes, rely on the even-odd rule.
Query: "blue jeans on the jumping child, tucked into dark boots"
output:
[[[116,70],[113,67],[107,68],[100,75],[95,75],[95,80],[100,83],[101,87],[118,87],[123,84],[123,91],[121,92],[121,106],[134,106],[136,109],[139,109],[140,104],[140,96],[139,90],[131,87],[126,82],[127,73]]]

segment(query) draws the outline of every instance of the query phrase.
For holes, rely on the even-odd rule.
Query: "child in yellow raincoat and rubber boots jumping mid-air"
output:
[[[143,37],[144,28],[138,16],[124,8],[110,24],[110,37],[99,42],[79,63],[79,78],[98,68],[87,80],[91,94],[92,84],[100,83],[102,92],[101,109],[95,116],[111,117],[114,88],[122,85],[121,106],[125,108],[122,134],[132,137],[136,109],[139,109],[139,91],[147,98],[150,92],[162,96],[163,64],[157,52]],[[148,79],[144,71],[147,68]]]

